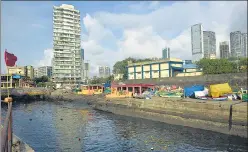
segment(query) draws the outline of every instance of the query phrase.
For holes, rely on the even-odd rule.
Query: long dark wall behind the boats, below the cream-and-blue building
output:
[[[215,84],[228,82],[232,87],[247,87],[247,73],[215,74],[190,77],[168,77],[160,79],[127,80],[124,83],[153,83],[158,85],[187,86],[194,84]]]

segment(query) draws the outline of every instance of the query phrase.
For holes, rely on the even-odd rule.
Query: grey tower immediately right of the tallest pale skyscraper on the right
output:
[[[216,56],[215,32],[203,31],[203,46],[204,58]]]

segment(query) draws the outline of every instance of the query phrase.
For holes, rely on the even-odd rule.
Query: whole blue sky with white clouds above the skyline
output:
[[[127,57],[191,59],[190,27],[202,23],[219,42],[230,32],[247,32],[246,1],[3,1],[1,8],[1,72],[3,52],[18,57],[17,65],[51,65],[53,56],[53,6],[70,4],[81,14],[81,45],[90,75],[98,66],[112,66]]]

